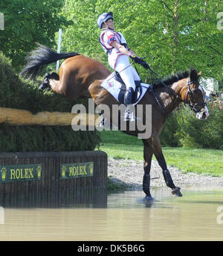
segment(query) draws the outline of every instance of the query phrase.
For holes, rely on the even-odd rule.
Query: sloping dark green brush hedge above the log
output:
[[[10,60],[0,51],[0,102],[1,107],[12,107],[30,110],[37,113],[48,111],[71,111],[72,102],[63,99],[55,93],[42,93],[38,90],[39,84],[16,75]],[[83,100],[80,102],[83,102]]]

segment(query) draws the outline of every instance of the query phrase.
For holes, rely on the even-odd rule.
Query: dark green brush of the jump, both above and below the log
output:
[[[74,102],[55,93],[42,93],[38,85],[16,75],[10,61],[0,52],[0,107],[38,113],[43,110],[71,112]],[[83,99],[75,104],[85,104]],[[0,152],[94,150],[100,143],[98,131],[74,132],[71,127],[0,125]]]

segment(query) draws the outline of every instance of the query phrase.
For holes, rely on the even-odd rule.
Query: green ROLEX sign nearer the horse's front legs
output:
[[[94,162],[65,163],[60,165],[60,178],[82,178],[94,175]]]

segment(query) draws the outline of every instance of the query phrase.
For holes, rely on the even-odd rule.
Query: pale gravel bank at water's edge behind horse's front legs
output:
[[[198,175],[193,172],[183,173],[175,167],[168,167],[172,180],[177,187],[213,186],[223,187],[223,178],[210,175]],[[162,169],[155,160],[152,160],[150,172],[151,187],[166,187]],[[127,190],[142,190],[143,161],[111,159],[108,161],[108,176],[115,183],[123,182]],[[159,177],[159,178],[157,178]]]

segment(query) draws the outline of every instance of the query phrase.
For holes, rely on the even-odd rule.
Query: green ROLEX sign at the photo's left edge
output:
[[[0,166],[0,183],[41,179],[41,164]]]

